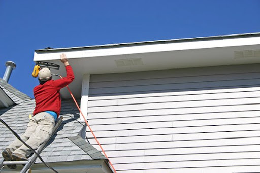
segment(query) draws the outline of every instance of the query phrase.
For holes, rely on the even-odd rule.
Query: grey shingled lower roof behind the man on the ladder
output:
[[[64,162],[77,160],[106,159],[98,150],[88,144],[85,136],[85,122],[80,122],[79,111],[73,100],[62,100],[61,113],[63,122],[53,135],[47,147],[40,154],[43,160],[50,162]],[[35,100],[26,100],[12,108],[0,109],[0,118],[3,119],[19,135],[25,132],[29,114],[35,107]],[[15,136],[0,124],[0,151],[8,146]],[[0,160],[2,156],[0,156]],[[41,163],[39,159],[36,163]]]

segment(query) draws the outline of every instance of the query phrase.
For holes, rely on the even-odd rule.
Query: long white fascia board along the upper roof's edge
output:
[[[207,49],[220,47],[260,45],[260,37],[248,38],[223,38],[221,40],[186,41],[175,43],[155,43],[148,45],[123,45],[120,47],[99,47],[99,48],[79,48],[79,49],[57,49],[46,51],[35,51],[34,61],[58,60],[60,53],[66,53],[68,59],[104,57],[114,55],[167,52],[193,49]]]

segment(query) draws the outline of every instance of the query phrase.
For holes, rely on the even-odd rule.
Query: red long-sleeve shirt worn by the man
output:
[[[49,80],[43,85],[40,84],[34,88],[36,103],[34,115],[44,111],[54,111],[59,116],[61,107],[59,90],[74,80],[72,67],[67,65],[65,68],[67,76],[63,79]]]

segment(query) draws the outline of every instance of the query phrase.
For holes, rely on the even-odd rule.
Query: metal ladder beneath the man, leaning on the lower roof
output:
[[[62,118],[63,118],[62,116],[58,117],[58,119],[57,119],[57,121],[56,121],[56,124],[55,124],[55,126],[54,126],[53,133],[52,133],[52,135],[50,136],[49,140],[47,140],[47,141],[45,141],[43,144],[41,144],[41,146],[36,150],[36,152],[37,152],[38,154],[40,154],[40,153],[43,151],[43,149],[46,147],[46,145],[48,144],[48,142],[51,140],[53,134],[56,133],[57,129],[59,128],[59,126],[60,126],[61,123],[62,123]],[[23,169],[20,171],[20,173],[28,173],[28,172],[30,172],[30,167],[35,163],[36,159],[37,159],[37,155],[36,155],[35,153],[32,154],[32,156],[29,158],[28,161],[27,161],[27,160],[26,160],[26,161],[4,161],[4,158],[2,158],[2,159],[0,160],[0,171],[1,171],[1,169],[2,169],[2,167],[3,167],[4,165],[23,164],[23,165],[25,165],[25,166],[24,166]]]

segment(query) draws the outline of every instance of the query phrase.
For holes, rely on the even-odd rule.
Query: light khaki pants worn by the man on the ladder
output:
[[[27,129],[21,136],[21,139],[31,146],[31,148],[36,150],[44,141],[50,138],[54,126],[55,122],[53,116],[47,112],[40,112],[29,120]],[[7,148],[11,149],[13,153],[22,154],[26,157],[32,152],[18,139],[11,143]]]

